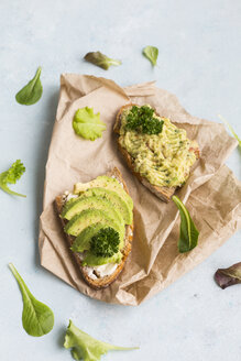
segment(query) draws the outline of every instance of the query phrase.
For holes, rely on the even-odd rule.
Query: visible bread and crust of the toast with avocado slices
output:
[[[120,171],[117,167],[114,167],[112,171],[108,172],[107,176],[114,177],[123,186],[123,189],[129,194],[128,187],[127,187],[127,185],[125,185],[125,183],[122,178],[122,175],[121,175]],[[57,196],[55,198],[55,208],[56,208],[57,215],[59,216],[63,229],[64,229],[64,227],[67,222],[65,219],[61,218],[61,214],[62,214],[62,209],[63,209],[64,204],[65,204],[64,195]],[[119,276],[119,274],[123,270],[127,258],[128,258],[129,253],[131,252],[133,230],[134,230],[133,222],[130,226],[125,226],[124,248],[121,250],[121,252],[123,254],[121,263],[118,264],[118,266],[113,271],[113,273],[111,273],[110,275],[106,275],[103,277],[98,276],[98,273],[94,272],[94,274],[96,275],[96,278],[95,280],[91,278],[89,276],[89,271],[90,271],[90,269],[94,269],[94,267],[83,266],[81,265],[83,261],[81,261],[80,254],[69,250],[69,252],[72,252],[73,258],[75,259],[75,261],[76,261],[76,263],[79,267],[79,271],[81,273],[81,276],[83,276],[84,281],[91,288],[100,289],[100,288],[108,287]],[[67,243],[70,248],[72,244],[74,243],[75,238],[67,234],[67,233],[65,233],[65,237],[66,237],[66,241],[67,241]]]

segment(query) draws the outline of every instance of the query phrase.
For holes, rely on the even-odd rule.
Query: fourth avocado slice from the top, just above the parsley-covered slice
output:
[[[120,240],[124,238],[124,225],[120,223],[111,210],[102,209],[85,209],[75,215],[65,226],[65,232],[77,237],[85,228],[95,225],[97,222],[109,222],[111,227],[116,229],[120,234]]]

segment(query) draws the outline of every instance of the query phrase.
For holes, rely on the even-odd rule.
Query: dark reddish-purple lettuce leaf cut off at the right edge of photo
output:
[[[241,283],[241,262],[228,269],[218,269],[215,273],[215,281],[222,289]]]

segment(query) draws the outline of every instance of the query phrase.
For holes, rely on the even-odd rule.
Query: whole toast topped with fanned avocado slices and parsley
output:
[[[55,208],[83,278],[95,289],[108,287],[123,270],[133,239],[133,201],[120,171],[77,183],[55,198]]]

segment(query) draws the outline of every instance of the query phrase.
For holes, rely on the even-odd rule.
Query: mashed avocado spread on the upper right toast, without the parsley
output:
[[[162,123],[157,134],[143,132],[141,127],[134,129],[128,124],[133,119],[133,108],[136,107],[122,112],[119,142],[132,156],[135,172],[152,185],[180,186],[186,182],[189,169],[196,161],[195,152],[191,150],[193,142],[187,138],[186,131],[174,125],[169,119],[160,118],[155,113],[152,119]]]

